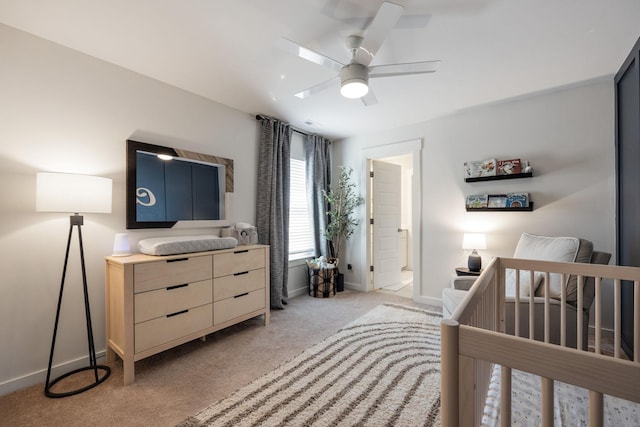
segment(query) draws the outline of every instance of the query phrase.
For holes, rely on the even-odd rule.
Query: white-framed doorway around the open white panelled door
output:
[[[398,295],[409,296],[414,301],[421,299],[420,283],[420,155],[422,141],[412,140],[389,144],[363,150],[363,160],[365,170],[371,170],[373,161],[381,161],[399,165],[400,172],[400,221],[396,227],[396,242],[398,251],[398,283],[391,290]],[[371,179],[367,180],[366,192],[366,212],[369,218],[374,218],[375,212],[373,202],[373,186]],[[367,267],[366,272],[369,278],[367,290],[380,288],[376,285],[374,273],[376,268],[383,269],[389,265],[376,265],[374,260],[375,242],[374,225],[367,221],[366,244],[363,248]],[[371,268],[373,267],[373,268]],[[373,270],[373,271],[371,271]],[[386,290],[385,290],[386,292]]]

